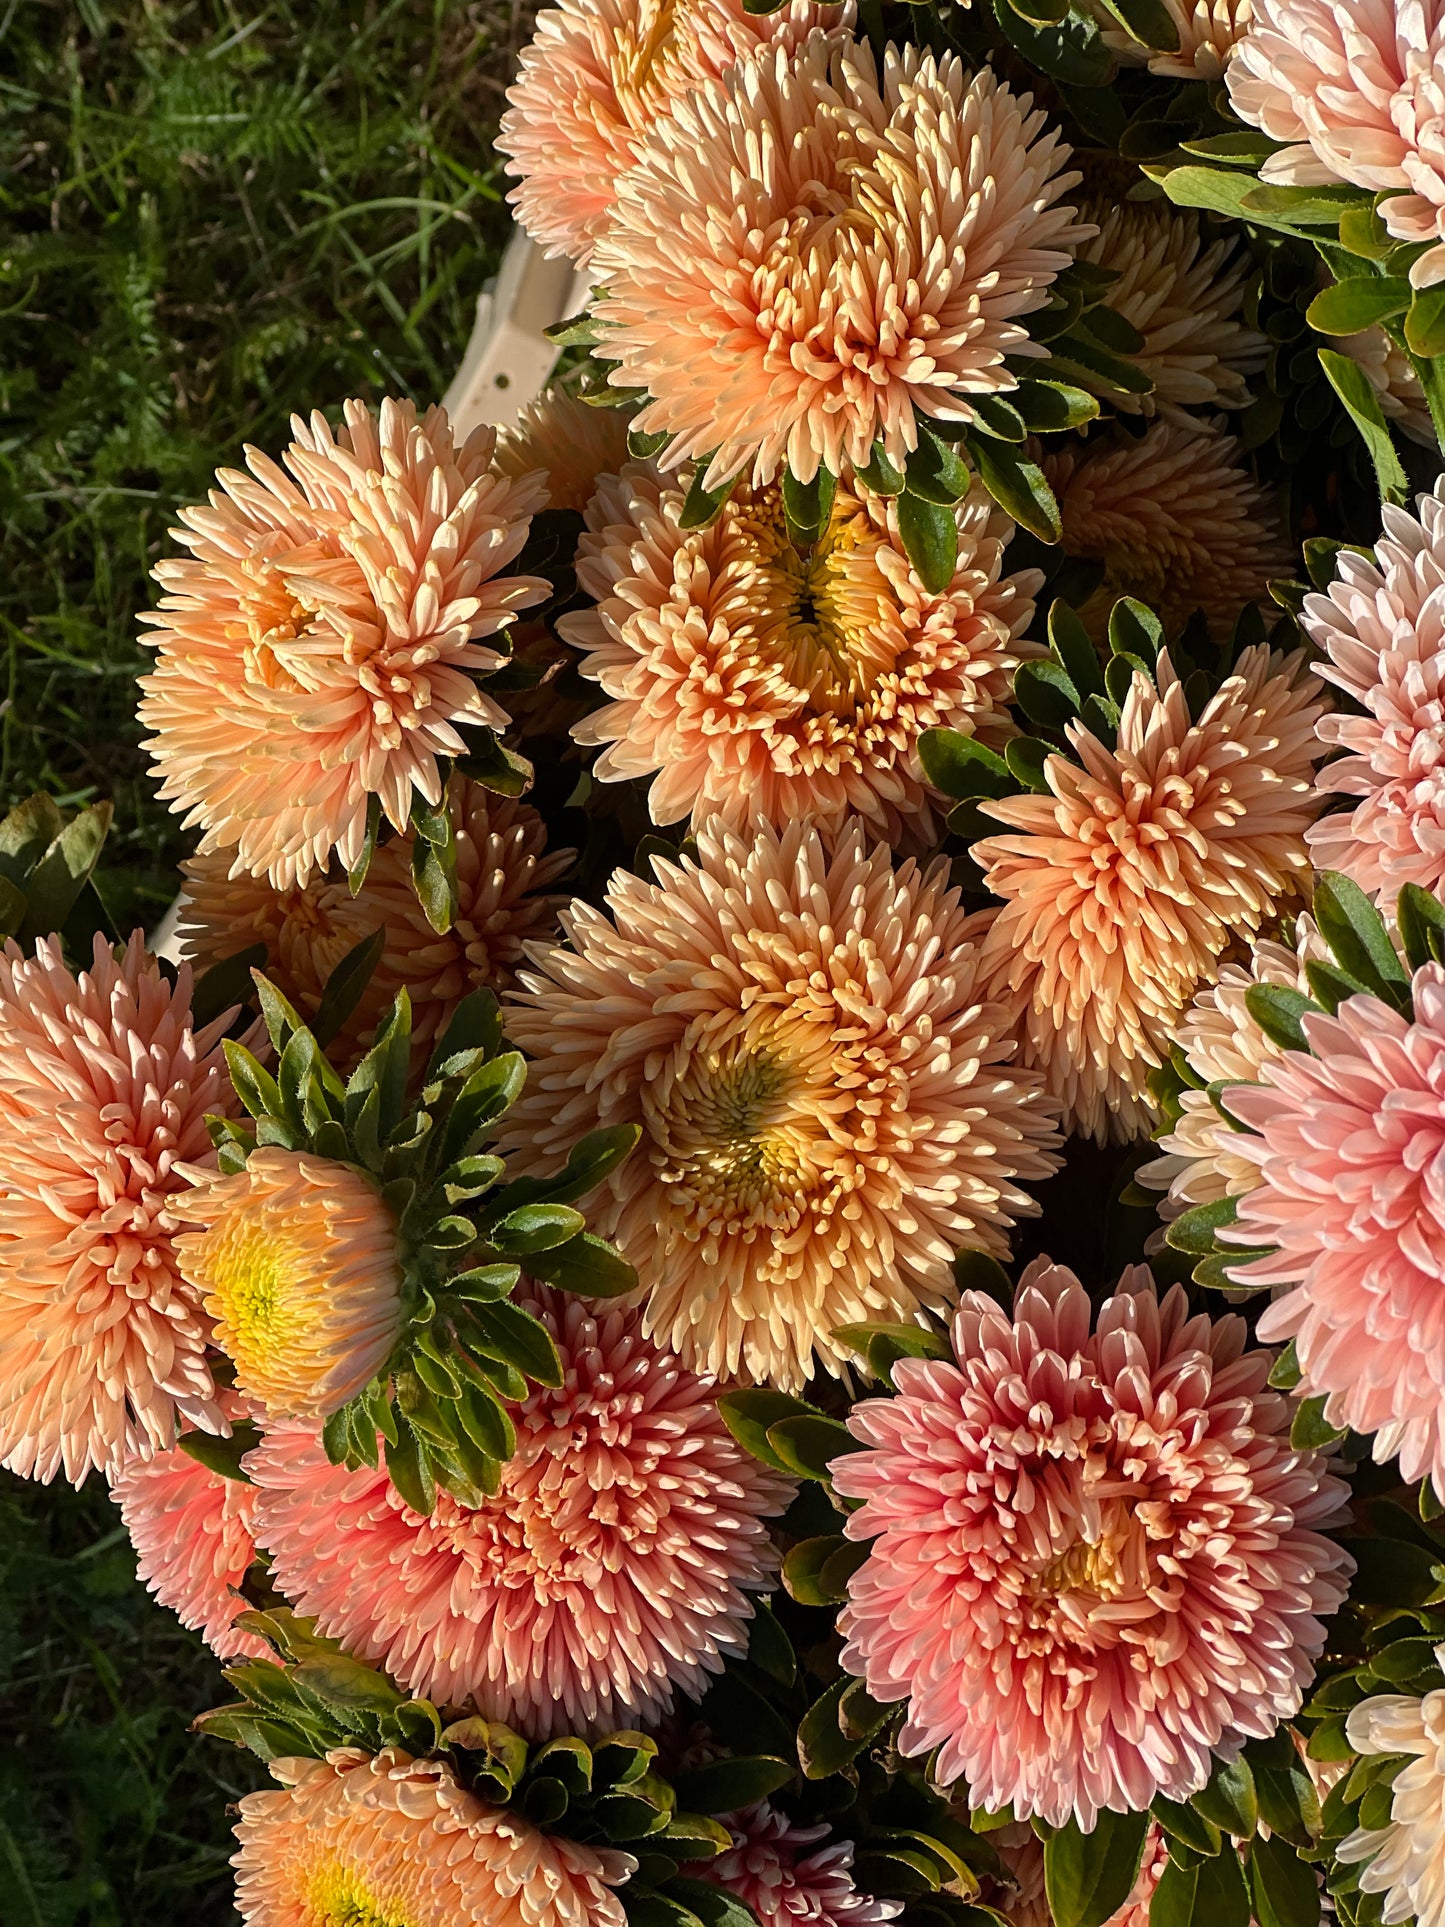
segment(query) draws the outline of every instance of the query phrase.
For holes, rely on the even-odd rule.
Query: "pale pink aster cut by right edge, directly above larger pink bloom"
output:
[[[1329,657],[1320,674],[1364,709],[1320,719],[1322,742],[1349,753],[1318,784],[1360,802],[1322,817],[1310,852],[1385,908],[1403,883],[1445,884],[1445,484],[1416,507],[1385,503],[1374,559],[1341,549],[1329,594],[1308,595],[1302,615]]]

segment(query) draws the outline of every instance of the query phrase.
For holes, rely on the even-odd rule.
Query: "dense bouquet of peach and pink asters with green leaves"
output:
[[[0,1461],[254,1927],[1445,1927],[1445,0],[511,102],[557,385],[156,568],[185,962],[0,825]]]

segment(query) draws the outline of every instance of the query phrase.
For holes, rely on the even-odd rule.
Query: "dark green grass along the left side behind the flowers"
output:
[[[123,925],[183,852],[135,728],[137,611],[183,501],[293,409],[434,399],[507,237],[507,4],[0,0],[0,807],[114,796]],[[0,1474],[0,1919],[233,1923],[187,1734],[225,1692],[92,1480]]]

